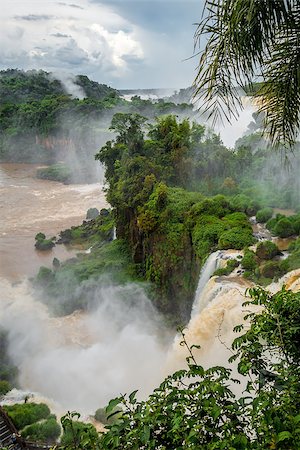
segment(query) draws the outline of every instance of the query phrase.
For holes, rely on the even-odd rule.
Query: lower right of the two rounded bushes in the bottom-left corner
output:
[[[43,422],[26,426],[22,430],[21,436],[30,441],[50,443],[55,442],[59,438],[60,433],[60,425],[55,417],[51,417]]]

